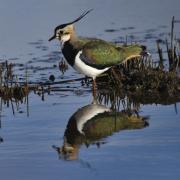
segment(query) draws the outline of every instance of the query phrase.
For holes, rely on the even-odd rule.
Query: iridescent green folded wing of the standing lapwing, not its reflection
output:
[[[131,56],[139,55],[140,46],[116,46],[103,40],[86,43],[82,48],[81,59],[94,67],[104,68],[117,65]]]

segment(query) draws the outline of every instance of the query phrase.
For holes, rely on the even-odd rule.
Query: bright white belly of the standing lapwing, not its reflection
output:
[[[80,72],[80,73],[82,73],[88,77],[95,79],[97,76],[99,76],[100,74],[102,74],[103,72],[107,71],[110,68],[110,67],[107,67],[105,69],[96,69],[96,68],[93,68],[93,67],[86,65],[79,58],[81,53],[82,53],[82,51],[79,51],[79,53],[76,55],[76,58],[75,58],[75,63],[74,63],[73,68],[76,71],[78,71],[78,72]]]

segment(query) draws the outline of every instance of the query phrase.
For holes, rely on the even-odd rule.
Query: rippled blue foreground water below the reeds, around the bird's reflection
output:
[[[3,112],[2,179],[179,178],[180,122],[173,106],[143,106],[141,115],[150,115],[149,127],[115,133],[100,148],[82,145],[77,160],[65,161],[52,145],[62,146],[70,116],[89,104],[91,96],[52,95],[45,102],[33,94],[30,98],[30,117]]]

